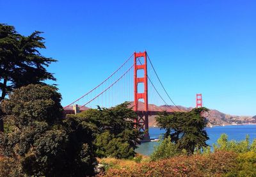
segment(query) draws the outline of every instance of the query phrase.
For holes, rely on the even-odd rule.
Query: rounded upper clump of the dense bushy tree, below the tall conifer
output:
[[[15,90],[1,104],[8,120],[17,128],[34,121],[56,123],[62,118],[61,95],[53,86],[28,85]]]

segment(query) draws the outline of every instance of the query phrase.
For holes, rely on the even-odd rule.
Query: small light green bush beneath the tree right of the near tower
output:
[[[178,150],[177,145],[172,142],[171,137],[166,137],[159,146],[155,147],[154,152],[150,155],[150,160],[155,161],[163,158],[174,157],[175,155],[179,155],[181,153]]]

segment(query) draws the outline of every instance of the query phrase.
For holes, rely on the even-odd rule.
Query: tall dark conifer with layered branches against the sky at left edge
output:
[[[44,84],[42,81],[56,79],[47,72],[55,59],[42,56],[38,49],[45,49],[42,32],[35,31],[29,36],[22,36],[15,27],[0,24],[0,102],[12,89],[28,84]],[[0,131],[3,121],[0,114]]]

